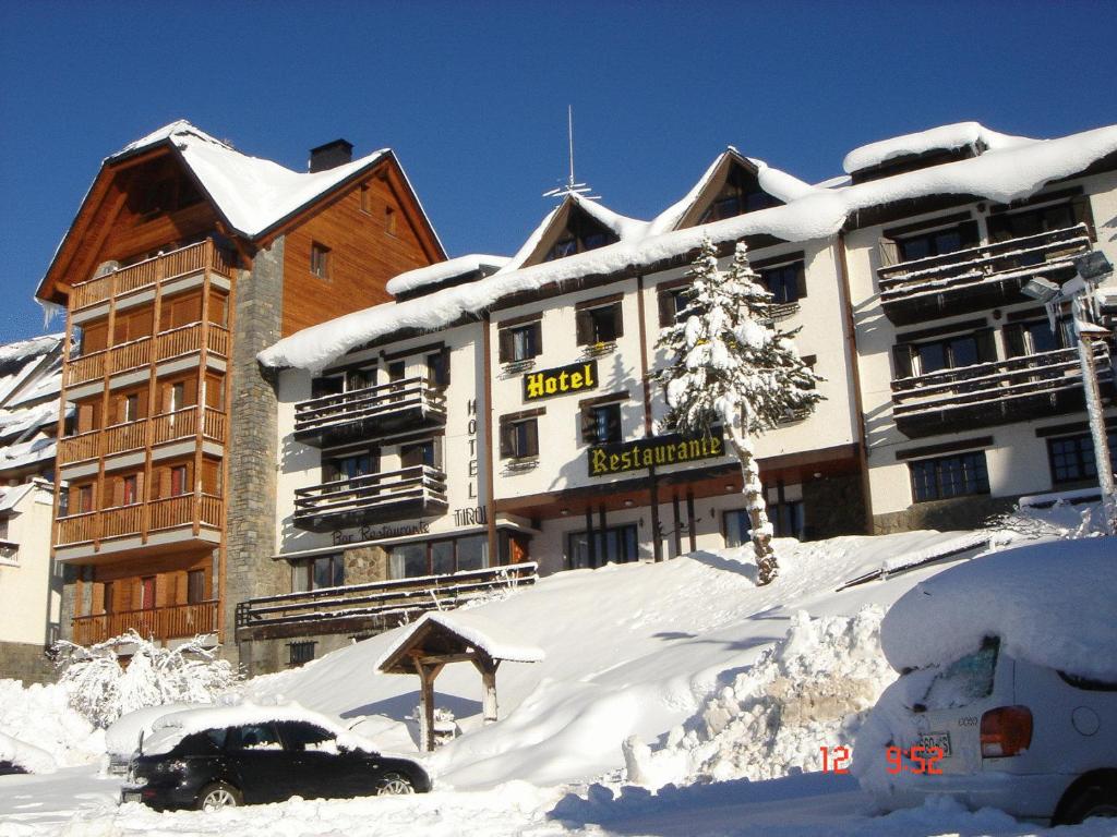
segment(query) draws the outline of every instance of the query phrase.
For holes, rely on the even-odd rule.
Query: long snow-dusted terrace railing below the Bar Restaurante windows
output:
[[[534,584],[534,561],[433,576],[370,581],[248,599],[237,605],[237,632],[313,635],[337,629],[386,628],[426,612],[459,605],[519,585]]]

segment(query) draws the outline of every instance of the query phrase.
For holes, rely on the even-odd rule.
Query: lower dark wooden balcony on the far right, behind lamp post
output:
[[[1094,346],[1105,400],[1114,369],[1105,344]],[[1011,424],[1085,408],[1077,349],[939,369],[892,382],[892,417],[910,439]]]

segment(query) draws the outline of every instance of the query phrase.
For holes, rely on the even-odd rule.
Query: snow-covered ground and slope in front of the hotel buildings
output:
[[[1078,516],[1065,517],[1030,519],[1028,531],[1065,535]],[[989,535],[1002,543],[1012,533]],[[560,574],[477,610],[543,658],[502,665],[502,720],[488,727],[474,667],[443,671],[436,702],[464,734],[427,760],[432,793],[156,814],[117,807],[117,781],[98,779],[89,764],[0,777],[0,837],[1047,833],[947,801],[877,816],[856,780],[819,772],[821,748],[848,745],[895,679],[879,644],[885,609],[983,540],[965,532],[780,540],[781,575],[770,587],[755,585],[747,551],[736,550]],[[856,578],[871,580],[844,586]],[[417,679],[375,673],[405,629],[259,677],[246,691],[259,703],[298,701],[385,750],[413,753],[417,729],[407,716]],[[0,729],[8,731],[3,714]],[[1058,834],[1114,831],[1096,820]]]

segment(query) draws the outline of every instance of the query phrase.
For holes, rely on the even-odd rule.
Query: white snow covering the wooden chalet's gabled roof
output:
[[[391,152],[374,151],[322,172],[293,172],[270,160],[242,154],[179,119],[124,146],[106,163],[170,142],[232,228],[254,238]]]

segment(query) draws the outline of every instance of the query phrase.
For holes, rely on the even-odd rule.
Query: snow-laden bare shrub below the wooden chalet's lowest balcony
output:
[[[134,648],[126,665],[118,650]],[[144,639],[134,631],[88,647],[69,642],[56,646],[70,705],[90,723],[108,727],[121,715],[164,703],[210,703],[233,689],[237,675],[201,637],[175,648]]]

